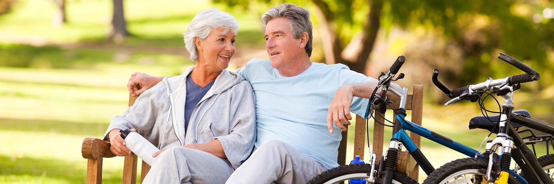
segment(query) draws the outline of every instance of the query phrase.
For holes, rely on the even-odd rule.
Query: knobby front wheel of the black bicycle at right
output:
[[[422,184],[444,184],[444,183],[469,183],[473,184],[471,180],[473,174],[486,175],[486,168],[489,165],[486,159],[465,158],[458,159],[433,171]],[[508,178],[509,184],[521,184],[522,182],[510,174]]]

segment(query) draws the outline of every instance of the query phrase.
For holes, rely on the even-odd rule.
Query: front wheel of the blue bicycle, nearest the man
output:
[[[341,165],[322,172],[312,178],[307,184],[331,184],[356,178],[368,178],[367,172],[371,171],[371,164]],[[394,171],[392,178],[394,184],[417,184],[416,180],[398,171]]]

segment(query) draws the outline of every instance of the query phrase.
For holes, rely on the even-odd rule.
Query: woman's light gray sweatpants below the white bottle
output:
[[[143,183],[225,183],[232,173],[231,164],[215,155],[175,146],[156,157]]]

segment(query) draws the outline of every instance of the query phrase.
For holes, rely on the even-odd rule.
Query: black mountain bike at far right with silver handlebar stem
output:
[[[423,183],[554,183],[552,178],[548,176],[546,172],[543,172],[544,169],[538,163],[535,154],[526,146],[524,140],[522,140],[521,136],[515,130],[514,125],[512,125],[512,123],[515,123],[554,135],[554,126],[531,118],[528,115],[512,112],[514,109],[512,93],[521,88],[520,83],[537,81],[540,75],[531,67],[522,64],[520,61],[504,53],[500,53],[498,58],[508,62],[525,73],[497,80],[489,78],[485,82],[450,91],[448,87],[438,80],[439,71],[437,69],[433,71],[433,83],[435,86],[447,94],[449,98],[453,98],[447,102],[445,106],[459,101],[460,99],[469,99],[471,102],[483,101],[483,95],[485,95],[486,98],[492,94],[497,94],[505,100],[501,106],[502,109],[499,119],[491,120],[488,118],[490,122],[496,123],[495,126],[498,127],[498,129],[496,138],[487,141],[485,152],[476,154],[473,158],[458,159],[449,162],[430,174]],[[481,108],[484,107],[481,106]],[[485,112],[492,111],[485,109]],[[491,133],[494,133],[494,131]],[[497,150],[500,154],[496,153]],[[547,156],[549,158],[551,157],[550,155]],[[508,174],[514,174],[514,171],[509,168],[512,158],[526,176],[525,179],[515,174],[514,176],[517,177],[517,181],[507,181],[512,178],[508,176]],[[471,178],[469,178],[469,176]]]

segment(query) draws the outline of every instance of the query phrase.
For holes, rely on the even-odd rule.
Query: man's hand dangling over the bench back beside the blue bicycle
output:
[[[352,104],[353,88],[351,85],[345,85],[338,88],[333,101],[329,105],[329,112],[327,112],[327,128],[329,132],[333,133],[333,124],[337,125],[342,131],[346,131],[346,127],[343,124],[350,125],[348,120],[352,119],[350,115],[350,105]]]

